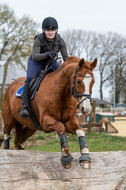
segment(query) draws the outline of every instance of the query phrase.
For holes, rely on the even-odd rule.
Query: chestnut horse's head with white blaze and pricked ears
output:
[[[91,63],[81,59],[74,73],[72,93],[82,113],[91,111],[91,90],[95,82],[92,71],[96,65],[97,59]]]

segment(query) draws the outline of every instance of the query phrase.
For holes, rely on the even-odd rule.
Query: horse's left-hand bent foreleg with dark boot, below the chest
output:
[[[45,132],[52,132],[55,130],[58,133],[62,151],[61,164],[66,169],[70,168],[73,158],[69,153],[69,147],[67,144],[65,127],[63,123],[55,120],[49,115],[45,115],[43,118],[43,130]]]

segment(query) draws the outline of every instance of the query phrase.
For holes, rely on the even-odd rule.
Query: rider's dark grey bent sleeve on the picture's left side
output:
[[[41,42],[39,38],[35,38],[33,48],[32,48],[33,61],[41,61],[48,58],[48,52],[40,53],[40,51],[41,51]]]

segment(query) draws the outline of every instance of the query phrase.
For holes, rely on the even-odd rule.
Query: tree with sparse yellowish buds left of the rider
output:
[[[8,68],[12,65],[20,65],[26,69],[26,58],[30,55],[37,25],[25,16],[16,19],[14,11],[7,5],[0,5],[0,18],[0,63],[4,65],[1,107]]]

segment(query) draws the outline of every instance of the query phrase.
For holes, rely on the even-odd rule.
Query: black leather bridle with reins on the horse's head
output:
[[[75,100],[77,101],[77,106],[79,107],[80,104],[81,104],[83,101],[85,101],[86,99],[89,99],[89,100],[91,101],[91,94],[78,94],[78,93],[76,92],[76,75],[80,75],[80,76],[86,77],[86,78],[89,78],[89,77],[91,77],[91,76],[86,76],[86,75],[82,75],[81,73],[77,73],[77,69],[78,69],[78,65],[76,66],[75,73],[74,73],[73,84],[72,84],[72,90],[71,90],[71,88],[70,88],[70,84],[69,84],[69,82],[68,82],[68,79],[67,79],[67,77],[66,77],[64,71],[63,71],[62,69],[60,69],[60,70],[62,71],[62,73],[63,73],[63,75],[64,75],[64,77],[65,77],[65,79],[66,79],[66,81],[67,81],[67,85],[68,85],[68,87],[69,87],[69,90],[70,90],[72,96],[73,96],[73,97],[75,98]],[[84,98],[83,98],[81,101],[79,101],[79,100],[78,100],[78,97],[84,97]]]

